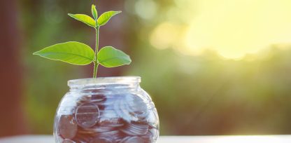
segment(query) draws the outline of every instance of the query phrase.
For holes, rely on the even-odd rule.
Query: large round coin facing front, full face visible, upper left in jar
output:
[[[76,121],[82,128],[90,128],[99,118],[99,108],[93,103],[83,103],[76,109]]]

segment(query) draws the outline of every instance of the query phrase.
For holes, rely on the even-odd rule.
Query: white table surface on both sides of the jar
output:
[[[0,143],[53,143],[52,135],[22,135],[0,138]],[[162,136],[157,143],[291,143],[291,135],[252,136]]]

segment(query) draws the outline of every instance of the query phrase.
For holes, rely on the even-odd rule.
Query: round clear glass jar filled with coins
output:
[[[137,76],[76,79],[55,115],[57,143],[152,143],[159,137],[155,104]]]

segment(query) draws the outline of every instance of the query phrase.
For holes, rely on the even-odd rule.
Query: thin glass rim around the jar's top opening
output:
[[[73,79],[68,81],[68,86],[88,86],[102,84],[132,84],[140,83],[140,76],[111,76],[87,79]]]

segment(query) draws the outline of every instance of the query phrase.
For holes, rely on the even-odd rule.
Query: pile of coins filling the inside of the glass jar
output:
[[[59,142],[153,143],[159,136],[157,111],[139,95],[84,95],[72,110],[59,116]]]

